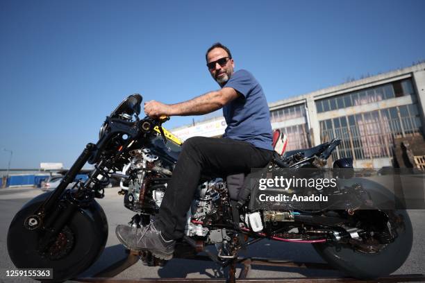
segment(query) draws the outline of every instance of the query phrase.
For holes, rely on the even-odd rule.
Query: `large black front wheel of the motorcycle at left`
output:
[[[17,268],[51,269],[52,278],[43,282],[63,282],[85,271],[101,255],[108,223],[101,206],[92,200],[90,206],[78,208],[46,252],[39,252],[44,232],[28,230],[24,221],[49,194],[33,198],[15,215],[8,230],[8,253]]]

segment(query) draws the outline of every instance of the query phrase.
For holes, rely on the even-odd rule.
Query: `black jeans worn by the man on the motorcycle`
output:
[[[266,166],[271,159],[272,151],[256,148],[246,141],[191,137],[183,144],[156,217],[156,227],[167,239],[183,237],[186,212],[201,174],[224,178],[233,173],[249,173],[251,168]]]

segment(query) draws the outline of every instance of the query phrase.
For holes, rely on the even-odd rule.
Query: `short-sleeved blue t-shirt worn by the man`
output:
[[[272,148],[272,125],[263,88],[249,71],[235,71],[223,87],[242,94],[223,107],[227,128],[223,137],[247,141],[258,148]]]

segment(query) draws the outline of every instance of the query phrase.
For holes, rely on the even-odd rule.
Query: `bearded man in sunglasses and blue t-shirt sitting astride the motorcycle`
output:
[[[184,116],[223,108],[227,123],[224,136],[185,141],[155,223],[144,228],[117,226],[119,241],[131,250],[150,250],[156,257],[171,259],[174,240],[183,237],[186,213],[201,173],[249,173],[272,159],[272,126],[260,84],[248,71],[233,71],[231,52],[220,43],[208,49],[206,61],[221,89],[173,105],[148,101],[144,112],[149,117]]]

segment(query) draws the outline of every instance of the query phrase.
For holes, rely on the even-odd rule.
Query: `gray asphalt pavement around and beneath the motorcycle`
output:
[[[99,200],[108,218],[109,234],[106,249],[99,259],[79,277],[90,277],[102,271],[110,264],[126,257],[124,247],[115,236],[115,227],[127,223],[134,212],[123,205],[123,196],[117,194],[119,188],[106,189],[106,197]],[[41,194],[40,189],[11,188],[0,189],[0,282],[36,282],[27,277],[6,277],[6,271],[15,268],[6,248],[6,237],[10,221],[28,200]],[[408,211],[413,225],[413,248],[407,261],[394,274],[425,273],[425,210]],[[25,243],[23,243],[25,244]],[[254,243],[244,257],[268,257],[289,261],[308,261],[324,263],[310,244],[284,243],[263,240]],[[238,266],[237,272],[242,266]],[[237,276],[238,276],[237,273]],[[140,278],[217,278],[224,277],[224,271],[212,261],[194,261],[192,259],[172,259],[163,267],[144,266],[142,261],[119,273],[116,279],[138,280]],[[277,266],[252,266],[248,278],[284,278],[284,277],[344,277],[344,274],[333,270],[317,270],[307,268],[289,268]],[[68,281],[72,282],[72,281]]]

